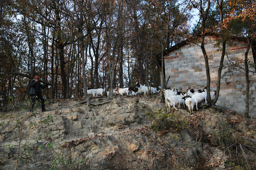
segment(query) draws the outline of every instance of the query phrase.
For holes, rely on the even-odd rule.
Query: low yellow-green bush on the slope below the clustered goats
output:
[[[151,129],[156,133],[180,131],[189,127],[189,123],[180,113],[169,109],[158,109],[156,112],[150,110],[146,112],[146,116],[152,121]]]

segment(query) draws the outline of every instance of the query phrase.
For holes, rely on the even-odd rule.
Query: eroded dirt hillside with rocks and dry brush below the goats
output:
[[[256,121],[211,108],[166,109],[158,95],[26,102],[1,110],[0,170],[246,170]],[[17,159],[18,156],[18,159]]]

